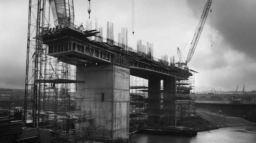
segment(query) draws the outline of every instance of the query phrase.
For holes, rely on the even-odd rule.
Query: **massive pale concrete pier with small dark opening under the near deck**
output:
[[[128,138],[130,70],[100,65],[77,66],[76,72],[77,80],[85,81],[76,84],[76,108],[91,118],[84,124],[90,136]]]

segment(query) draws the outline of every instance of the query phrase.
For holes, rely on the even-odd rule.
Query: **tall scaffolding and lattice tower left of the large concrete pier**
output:
[[[72,0],[65,4],[68,7]],[[75,123],[85,117],[75,107],[76,83],[81,81],[76,80],[75,66],[47,55],[48,47],[41,34],[52,29],[50,8],[50,1],[29,0],[23,120],[32,128],[50,132],[45,135],[47,142],[73,142]],[[70,8],[68,14],[72,17],[73,7]]]

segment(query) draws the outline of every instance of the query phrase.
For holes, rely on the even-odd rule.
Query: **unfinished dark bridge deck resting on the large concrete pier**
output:
[[[130,68],[130,75],[148,79],[150,76],[172,76],[187,80],[192,76],[189,69],[167,66],[145,55],[104,42],[94,42],[87,37],[96,36],[93,31],[79,31],[74,27],[50,29],[43,32],[43,42],[49,46],[48,55],[73,65],[115,64]]]

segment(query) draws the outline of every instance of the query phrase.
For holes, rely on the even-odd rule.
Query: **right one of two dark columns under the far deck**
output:
[[[175,77],[164,78],[164,95],[163,95],[163,114],[164,126],[173,126],[175,124],[175,96],[176,96],[176,79]]]

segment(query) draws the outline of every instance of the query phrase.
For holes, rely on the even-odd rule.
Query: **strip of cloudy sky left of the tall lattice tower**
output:
[[[24,88],[28,3],[1,1],[0,12],[0,88]]]

